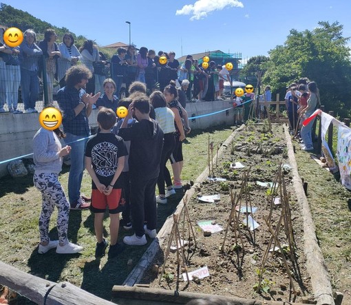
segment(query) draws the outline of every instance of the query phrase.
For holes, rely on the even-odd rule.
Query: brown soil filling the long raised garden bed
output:
[[[292,274],[296,293],[292,293],[288,272],[279,251],[268,254],[262,272],[261,288],[257,291],[259,269],[262,264],[264,252],[268,247],[268,241],[272,235],[264,220],[270,213],[270,204],[268,204],[270,187],[262,187],[257,185],[256,182],[273,182],[280,162],[283,165],[288,163],[283,127],[273,125],[272,132],[269,132],[268,129],[267,124],[257,126],[248,125],[238,132],[233,143],[225,148],[222,157],[218,158],[213,164],[214,176],[217,178],[226,178],[227,180],[225,182],[211,182],[209,180],[202,182],[197,192],[195,192],[195,196],[191,198],[188,204],[197,246],[194,246],[192,240],[188,246],[184,247],[187,269],[190,272],[207,266],[209,276],[201,280],[195,278],[190,284],[187,284],[182,278],[177,281],[178,264],[175,252],[170,253],[167,259],[162,282],[159,285],[158,279],[164,262],[164,253],[166,253],[167,248],[167,242],[165,242],[162,251],[156,255],[153,261],[153,269],[145,273],[141,284],[150,284],[153,288],[175,290],[178,287],[180,291],[230,295],[247,299],[301,302],[302,296],[310,297],[312,292],[309,275],[305,268],[306,259],[303,251],[304,232],[302,229],[300,207],[297,204],[292,188],[292,177],[290,176],[289,169],[285,171],[284,181],[286,189],[290,193],[290,200],[288,201],[295,238],[295,263],[291,260],[290,247],[284,247],[284,253],[286,253],[285,257]],[[215,149],[213,155],[215,155]],[[241,162],[245,168],[231,169],[230,165],[235,162]],[[240,193],[243,173],[250,167],[248,187],[246,188],[250,199],[247,203],[251,201],[252,207],[257,207],[257,211],[252,215],[254,220],[259,224],[259,227],[254,231],[248,230],[242,224],[242,221],[246,219],[246,215],[240,213],[240,229],[236,231],[238,242],[237,244],[235,243],[235,229],[233,222],[231,222],[224,251],[221,252],[224,233],[231,213],[230,190],[233,189],[233,193],[236,194]],[[220,195],[220,200],[215,203],[202,203],[197,197],[215,194]],[[242,206],[245,204],[246,199],[244,197],[242,199]],[[282,211],[281,204],[275,205],[272,211],[271,224],[273,229],[275,229]],[[237,212],[235,212],[235,215],[237,215]],[[213,223],[219,224],[223,228],[223,231],[205,237],[204,232],[197,225],[197,222],[200,220],[211,220]],[[180,235],[183,232],[182,228],[180,222]],[[240,242],[240,234],[242,235],[244,245]],[[184,225],[184,235],[182,236],[184,236],[184,240],[189,239],[187,224]],[[288,244],[284,227],[280,229],[279,242],[281,244]],[[270,246],[270,248],[272,247]],[[158,271],[154,266],[155,264],[159,266]],[[181,273],[183,272],[184,268],[180,266],[180,277],[182,277]]]

